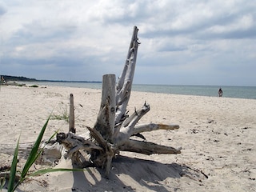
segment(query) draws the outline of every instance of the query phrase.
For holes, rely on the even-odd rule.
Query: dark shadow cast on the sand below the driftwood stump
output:
[[[95,169],[95,168],[94,168]],[[189,166],[177,163],[163,164],[139,158],[118,156],[112,162],[109,178],[102,169],[73,172],[73,191],[176,191],[177,181],[186,177],[193,182],[202,182],[206,174]],[[90,178],[90,179],[88,179]],[[93,182],[92,182],[93,181]],[[175,183],[176,184],[175,184]]]

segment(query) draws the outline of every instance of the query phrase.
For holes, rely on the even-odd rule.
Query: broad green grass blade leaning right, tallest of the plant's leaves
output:
[[[30,167],[33,165],[35,160],[38,158],[38,148],[39,148],[39,146],[42,142],[42,136],[45,133],[46,126],[48,125],[49,120],[50,120],[50,117],[47,119],[46,123],[42,127],[42,130],[41,130],[40,134],[38,135],[38,138],[37,138],[36,142],[34,143],[34,146],[32,147],[32,150],[30,151],[30,155],[27,158],[26,164],[25,164],[25,166],[22,170],[22,174],[21,174],[21,179],[22,180],[25,179],[28,170],[30,170]]]

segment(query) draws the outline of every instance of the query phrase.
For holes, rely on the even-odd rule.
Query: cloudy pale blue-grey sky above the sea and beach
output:
[[[256,86],[256,2],[6,0],[0,74],[102,81],[138,26],[136,84]]]

